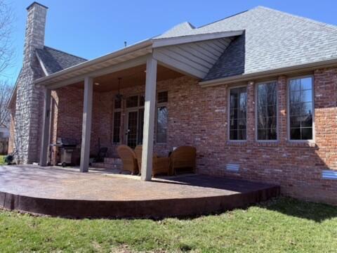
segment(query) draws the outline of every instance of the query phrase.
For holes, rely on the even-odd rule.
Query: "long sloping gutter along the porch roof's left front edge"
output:
[[[74,72],[74,71],[79,70],[79,69],[84,68],[84,67],[90,67],[91,65],[95,65],[95,64],[102,63],[102,62],[105,62],[107,60],[111,60],[113,58],[119,57],[119,56],[123,56],[125,53],[131,53],[133,51],[137,51],[140,48],[145,48],[145,47],[150,46],[150,45],[152,45],[152,39],[147,39],[145,41],[141,41],[137,44],[133,44],[131,46],[127,46],[126,48],[119,49],[118,51],[114,51],[113,53],[108,53],[107,55],[100,56],[100,57],[95,58],[93,60],[88,60],[84,63],[79,63],[78,65],[74,65],[73,67],[68,67],[65,70],[61,70],[59,72],[49,74],[46,77],[41,77],[41,78],[35,80],[34,84],[40,84],[41,82],[45,82],[45,81],[47,81],[49,79],[53,79],[55,77],[59,77],[63,74],[68,74],[70,72]]]

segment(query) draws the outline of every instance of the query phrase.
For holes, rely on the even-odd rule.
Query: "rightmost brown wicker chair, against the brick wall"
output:
[[[191,146],[180,146],[170,155],[171,174],[176,174],[177,169],[191,169],[195,173],[195,160],[197,150]]]

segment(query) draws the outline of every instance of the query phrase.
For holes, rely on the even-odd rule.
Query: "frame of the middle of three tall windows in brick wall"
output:
[[[276,140],[259,140],[258,139],[258,85],[276,83]],[[277,79],[257,82],[255,84],[255,141],[259,143],[278,143],[279,142],[279,84]]]

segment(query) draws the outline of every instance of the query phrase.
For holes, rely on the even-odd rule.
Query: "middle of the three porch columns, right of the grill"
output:
[[[79,170],[88,172],[91,138],[91,115],[93,111],[93,78],[84,79],[83,123],[81,142],[81,162]]]

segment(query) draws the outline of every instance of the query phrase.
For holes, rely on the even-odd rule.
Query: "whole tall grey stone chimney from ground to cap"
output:
[[[47,9],[37,2],[27,7],[23,63],[15,104],[14,152],[19,164],[39,161],[44,92],[34,85],[34,80],[44,76],[36,49],[44,48]]]

